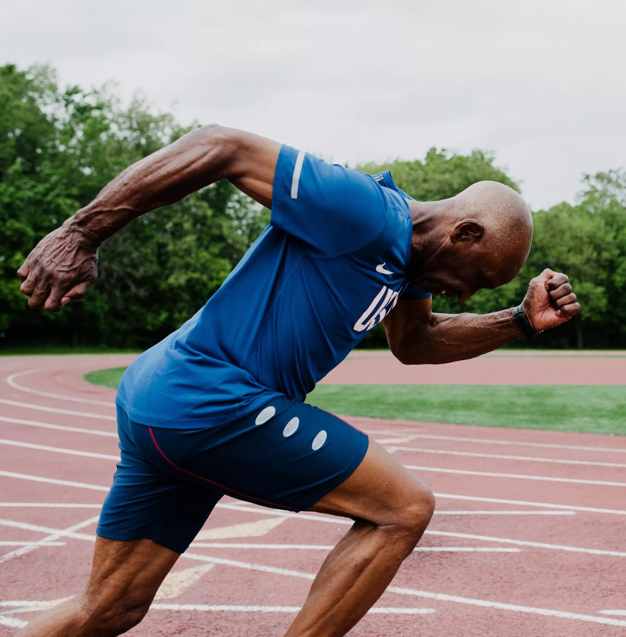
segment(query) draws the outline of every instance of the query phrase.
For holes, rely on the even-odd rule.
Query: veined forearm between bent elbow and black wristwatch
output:
[[[402,362],[418,365],[463,361],[523,336],[511,309],[491,314],[432,313],[426,326],[405,336]]]

